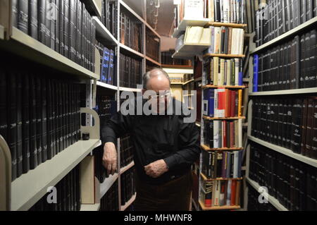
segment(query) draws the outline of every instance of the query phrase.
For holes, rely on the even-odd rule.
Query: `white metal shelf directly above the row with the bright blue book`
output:
[[[272,39],[271,41],[266,42],[265,44],[262,44],[259,47],[256,47],[253,51],[250,51],[250,54],[255,54],[263,49],[271,47],[273,44],[280,42],[282,39],[285,39],[285,38],[290,37],[292,35],[296,35],[298,32],[304,30],[304,28],[307,28],[316,22],[317,22],[317,16],[312,18],[311,20],[306,21],[305,23],[302,23],[301,25],[297,26],[296,28],[293,28],[292,30],[285,32],[284,34],[276,37],[275,39]]]

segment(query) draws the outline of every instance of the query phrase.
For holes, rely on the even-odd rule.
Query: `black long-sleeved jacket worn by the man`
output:
[[[173,106],[177,100],[173,99]],[[144,103],[144,101],[143,101]],[[199,132],[195,123],[184,123],[183,114],[176,115],[127,115],[116,113],[102,128],[103,142],[116,142],[116,138],[130,133],[134,145],[135,167],[139,178],[148,183],[165,183],[189,171],[200,153]],[[151,178],[144,166],[164,159],[168,172]]]

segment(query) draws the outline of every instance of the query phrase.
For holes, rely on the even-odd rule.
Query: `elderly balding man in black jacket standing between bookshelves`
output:
[[[152,107],[176,103],[171,97],[170,79],[160,68],[143,76],[144,90],[152,90]],[[161,92],[160,92],[161,91]],[[162,91],[164,94],[162,95]],[[154,93],[154,94],[155,94]],[[156,102],[156,101],[154,101]],[[180,103],[180,102],[178,102]],[[144,99],[143,99],[144,104]],[[184,114],[115,114],[102,129],[104,166],[108,174],[117,169],[116,138],[130,133],[137,171],[135,210],[188,210],[192,192],[190,166],[199,157],[199,132],[194,123],[186,123]]]

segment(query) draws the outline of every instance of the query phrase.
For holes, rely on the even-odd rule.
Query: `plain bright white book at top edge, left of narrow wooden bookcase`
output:
[[[184,18],[201,19],[204,18],[204,0],[184,1]]]

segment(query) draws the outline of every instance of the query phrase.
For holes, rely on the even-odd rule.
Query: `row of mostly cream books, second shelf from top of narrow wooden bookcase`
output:
[[[206,29],[206,28],[205,28]],[[243,54],[244,30],[241,28],[209,27],[210,47],[204,54]]]

